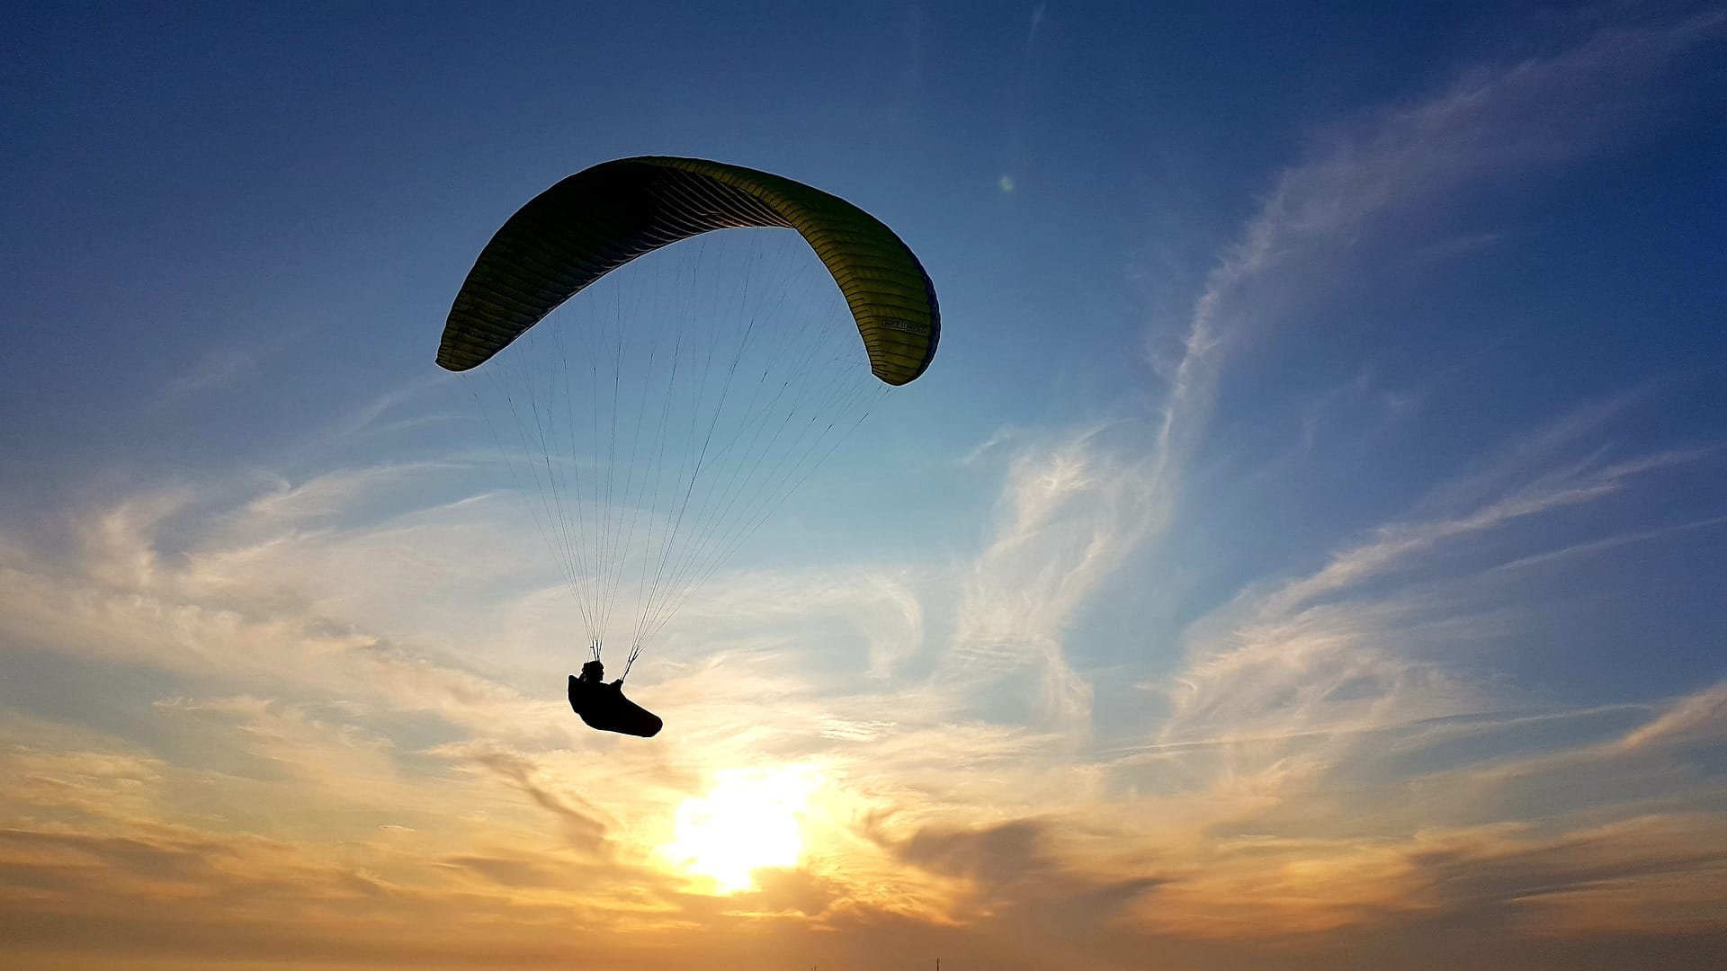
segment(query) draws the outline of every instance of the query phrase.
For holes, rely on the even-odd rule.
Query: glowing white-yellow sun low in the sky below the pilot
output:
[[[661,855],[720,893],[753,886],[751,871],[798,866],[803,816],[822,776],[808,765],[724,769],[703,796],[677,807]]]

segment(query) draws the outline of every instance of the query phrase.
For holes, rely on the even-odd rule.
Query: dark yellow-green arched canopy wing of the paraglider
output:
[[[558,304],[625,263],[710,230],[798,230],[839,283],[870,370],[901,385],[941,333],[936,290],[879,219],[808,185],[724,162],[601,162],[534,197],[485,245],[456,294],[437,363],[482,365]]]

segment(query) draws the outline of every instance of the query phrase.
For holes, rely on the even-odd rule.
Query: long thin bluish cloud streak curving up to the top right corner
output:
[[[1180,461],[1200,439],[1233,354],[1342,278],[1439,245],[1418,232],[1423,207],[1471,183],[1582,155],[1642,124],[1651,81],[1715,40],[1724,22],[1706,12],[1601,29],[1547,57],[1463,71],[1435,97],[1321,136],[1278,176],[1209,273],[1180,337],[1152,332],[1148,356],[1167,380],[1154,466]]]

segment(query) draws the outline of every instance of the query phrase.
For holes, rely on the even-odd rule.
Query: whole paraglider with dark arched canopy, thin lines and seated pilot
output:
[[[739,230],[772,230],[775,240],[793,230],[798,252]],[[743,237],[743,256],[725,240],[710,247],[710,233]],[[679,245],[694,237],[694,251]],[[710,264],[625,270],[658,251]],[[824,292],[796,290],[786,270],[796,261],[819,261]],[[611,282],[572,301],[584,320],[535,340],[560,304]],[[497,230],[456,294],[437,363],[468,371],[497,358],[487,368],[496,411],[516,432],[499,442],[520,447],[511,468],[537,494],[530,510],[594,644],[584,676],[570,676],[570,705],[589,726],[660,731],[658,717],[623,698],[622,677],[601,676],[599,644],[629,581],[634,662],[882,387],[929,368],[939,330],[934,285],[893,230],[843,199],[741,166],[603,162]],[[518,340],[528,347],[504,352]]]

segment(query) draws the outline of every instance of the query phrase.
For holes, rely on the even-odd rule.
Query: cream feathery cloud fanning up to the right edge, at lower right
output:
[[[1335,784],[1351,765],[1364,771],[1389,738],[1440,724],[1485,736],[1502,717],[1549,708],[1480,665],[1451,663],[1444,646],[1490,643],[1527,624],[1521,608],[1487,596],[1496,577],[1575,548],[1544,549],[1547,534],[1525,527],[1696,475],[1710,456],[1610,460],[1578,437],[1587,425],[1559,420],[1527,439],[1539,447],[1513,446],[1437,489],[1445,517],[1385,524],[1314,572],[1250,586],[1193,620],[1186,665],[1166,688],[1171,717],[1147,752],[1186,786],[1249,784],[1275,800]],[[1432,498],[1421,511],[1437,511]]]

